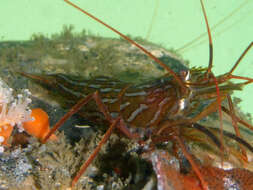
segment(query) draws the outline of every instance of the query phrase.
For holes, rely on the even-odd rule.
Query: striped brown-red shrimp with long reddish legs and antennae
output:
[[[140,142],[140,144],[149,142],[149,148],[145,150],[147,152],[154,150],[154,145],[158,143],[171,141],[176,150],[175,152],[180,150],[188,160],[199,180],[201,189],[205,190],[209,189],[210,181],[204,178],[201,166],[197,164],[196,159],[189,152],[186,145],[188,140],[205,143],[203,139],[192,136],[194,131],[206,135],[207,141],[218,147],[221,153],[221,162],[226,159],[225,153],[235,154],[238,159],[245,163],[248,161],[247,151],[253,152],[253,147],[242,139],[238,123],[243,124],[250,130],[253,130],[253,127],[236,115],[231,93],[235,90],[242,90],[243,86],[253,82],[251,78],[233,74],[240,61],[252,48],[253,42],[244,50],[230,71],[223,75],[215,76],[212,72],[213,45],[211,32],[203,2],[200,0],[209,37],[209,64],[207,68],[192,68],[178,74],[135,41],[70,1],[65,0],[65,2],[119,34],[167,71],[165,76],[155,81],[138,85],[124,83],[108,77],[77,81],[63,74],[36,75],[22,73],[22,75],[32,78],[44,86],[53,87],[54,90],[67,97],[68,102],[74,105],[55,124],[44,138],[43,143],[47,142],[50,136],[76,112],[86,116],[86,113],[90,110],[95,110],[102,113],[103,120],[109,122],[109,129],[74,177],[72,187],[78,182],[80,176],[96,157],[101,146],[109,139],[114,129],[118,129],[127,138]],[[243,82],[232,82],[231,79],[240,79]],[[99,88],[94,88],[94,86],[99,86]],[[224,104],[224,101],[228,103]],[[94,102],[96,104],[95,108],[90,106],[91,103],[94,105]],[[85,108],[81,109],[84,105],[86,105]],[[219,113],[219,129],[211,129],[198,124],[198,121],[213,112]],[[223,130],[223,113],[228,114],[232,118],[235,135]],[[239,148],[228,147],[224,138],[235,140]]]

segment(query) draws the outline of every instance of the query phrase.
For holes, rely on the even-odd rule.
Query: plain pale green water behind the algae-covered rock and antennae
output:
[[[79,0],[85,10],[102,18],[124,34],[148,37],[152,42],[167,48],[179,49],[185,43],[206,31],[198,0]],[[214,71],[228,71],[249,45],[253,37],[253,2],[238,0],[206,0],[205,6],[210,25],[221,21],[246,2],[233,16],[213,31]],[[152,22],[155,7],[157,14]],[[61,31],[63,25],[74,25],[77,31],[88,28],[94,34],[113,36],[109,30],[88,19],[64,1],[9,0],[0,3],[0,40],[28,40],[33,33],[50,35]],[[152,26],[148,34],[149,27]],[[206,66],[208,41],[179,51],[191,66]],[[253,78],[253,49],[243,59],[235,74]],[[253,84],[236,96],[245,112],[253,114]]]

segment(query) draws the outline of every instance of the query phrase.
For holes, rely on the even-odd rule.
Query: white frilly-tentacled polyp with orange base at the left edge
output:
[[[24,130],[23,122],[32,120],[30,91],[22,90],[22,94],[13,97],[13,89],[0,80],[0,152],[4,151],[3,145],[8,145],[8,139],[14,126],[19,132]]]

